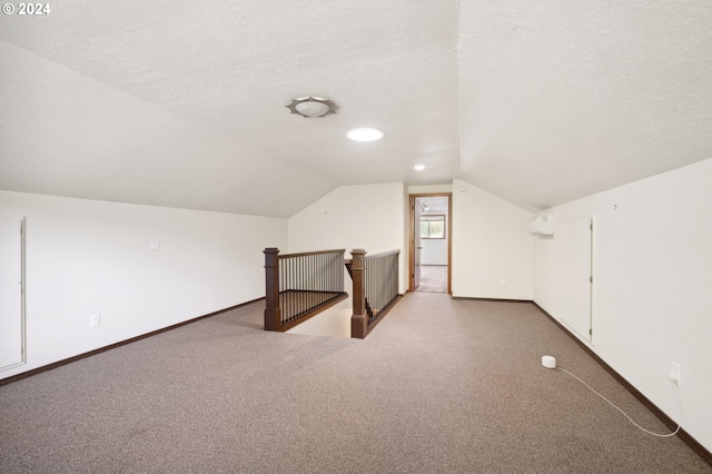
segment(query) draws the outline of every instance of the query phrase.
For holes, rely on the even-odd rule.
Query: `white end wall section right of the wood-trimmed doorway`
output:
[[[530,217],[521,207],[453,180],[453,296],[532,299]]]

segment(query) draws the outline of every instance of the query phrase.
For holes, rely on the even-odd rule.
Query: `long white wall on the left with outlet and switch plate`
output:
[[[2,378],[264,297],[263,250],[287,245],[277,218],[9,191],[0,213],[27,223],[28,363]]]

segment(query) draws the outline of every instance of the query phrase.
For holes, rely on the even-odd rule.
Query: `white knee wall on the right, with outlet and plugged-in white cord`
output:
[[[712,159],[550,211],[594,216],[592,349],[676,421],[680,363],[682,426],[712,451]],[[564,297],[553,245],[535,238],[534,299],[550,313]]]

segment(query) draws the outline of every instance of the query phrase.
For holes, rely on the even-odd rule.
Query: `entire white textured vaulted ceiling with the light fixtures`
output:
[[[0,17],[0,189],[288,217],[462,178],[536,211],[712,157],[708,0],[50,9]]]

